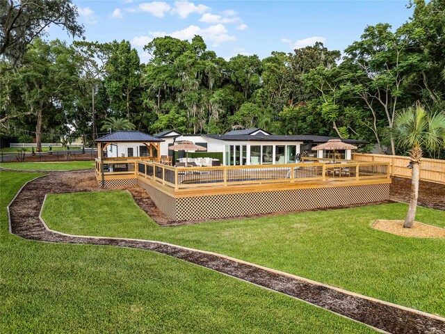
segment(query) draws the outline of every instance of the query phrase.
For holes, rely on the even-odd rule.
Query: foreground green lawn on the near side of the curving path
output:
[[[9,234],[5,207],[38,175],[0,172],[2,333],[374,333],[165,255]]]

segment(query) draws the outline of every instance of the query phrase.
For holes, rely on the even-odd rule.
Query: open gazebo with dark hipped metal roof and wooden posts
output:
[[[141,148],[146,148],[145,156],[154,158],[156,150],[157,162],[161,162],[160,143],[163,140],[139,131],[116,131],[96,139],[97,157],[104,160],[104,151],[109,158],[144,157]],[[149,154],[149,155],[148,155]]]

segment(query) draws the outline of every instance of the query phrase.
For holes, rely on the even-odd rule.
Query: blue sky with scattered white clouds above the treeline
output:
[[[141,61],[143,45],[172,35],[191,39],[202,35],[218,56],[291,52],[319,40],[343,51],[358,40],[367,25],[387,22],[398,27],[412,14],[408,1],[88,1],[74,0],[87,40],[129,40]],[[49,29],[49,39],[70,38]]]

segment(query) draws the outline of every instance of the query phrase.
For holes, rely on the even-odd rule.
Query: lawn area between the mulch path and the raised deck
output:
[[[378,218],[403,218],[406,210],[391,203],[161,228],[129,193],[106,191],[50,195],[43,216],[67,233],[212,250],[444,316],[445,239],[410,239],[369,227]],[[419,207],[416,220],[445,227],[445,212]]]

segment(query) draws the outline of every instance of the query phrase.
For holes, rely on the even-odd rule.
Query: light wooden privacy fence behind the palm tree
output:
[[[385,154],[353,153],[355,161],[389,162],[391,176],[411,178],[410,157]],[[422,159],[420,164],[420,179],[423,181],[445,184],[445,160]]]

